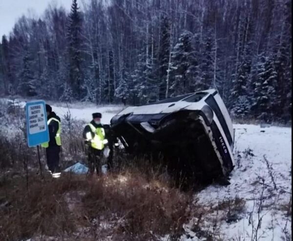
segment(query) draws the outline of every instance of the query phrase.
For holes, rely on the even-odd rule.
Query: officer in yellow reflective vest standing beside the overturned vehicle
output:
[[[97,174],[99,174],[103,149],[108,140],[105,139],[105,129],[101,124],[102,114],[93,113],[92,116],[93,120],[84,127],[83,138],[88,145],[89,171],[92,174],[96,168]]]

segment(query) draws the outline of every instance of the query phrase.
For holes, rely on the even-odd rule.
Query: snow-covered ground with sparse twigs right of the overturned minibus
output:
[[[227,187],[210,185],[195,195],[197,203],[210,206],[235,197],[246,201],[241,220],[219,221],[219,232],[225,240],[251,240],[259,217],[261,225],[257,240],[281,240],[285,231],[292,231],[291,217],[286,217],[286,211],[280,210],[282,204],[289,203],[292,192],[291,128],[271,126],[265,132],[261,132],[259,125],[234,124],[234,128],[236,166],[231,173],[231,184]],[[260,201],[262,208],[258,216]],[[206,226],[208,228],[212,223]],[[190,230],[186,231],[194,236]],[[186,237],[183,240],[193,239]]]

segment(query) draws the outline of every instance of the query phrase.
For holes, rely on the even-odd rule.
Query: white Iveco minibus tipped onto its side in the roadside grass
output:
[[[111,120],[126,152],[163,155],[168,170],[190,180],[227,177],[234,167],[234,131],[214,89],[141,106]]]

